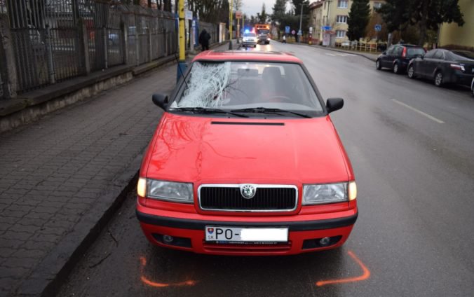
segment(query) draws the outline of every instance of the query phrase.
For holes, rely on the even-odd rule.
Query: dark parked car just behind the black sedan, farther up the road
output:
[[[421,46],[394,44],[377,57],[375,67],[377,67],[378,70],[382,68],[392,69],[395,74],[401,74],[407,71],[410,60],[424,54],[425,50],[421,48]]]

